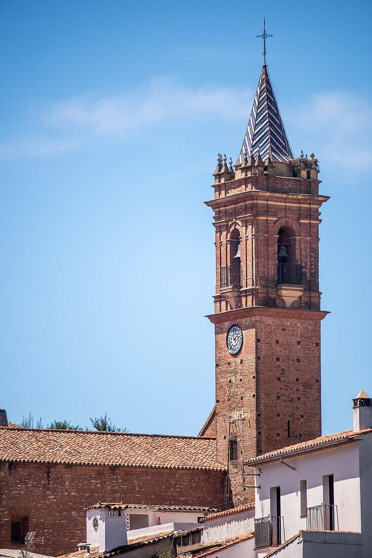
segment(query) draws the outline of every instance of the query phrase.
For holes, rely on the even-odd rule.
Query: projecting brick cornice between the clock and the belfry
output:
[[[224,321],[234,321],[251,317],[321,321],[329,313],[330,312],[325,310],[302,310],[299,308],[277,308],[274,306],[249,306],[247,308],[238,308],[237,310],[219,312],[218,314],[209,314],[205,317],[209,318],[212,324],[219,324]]]

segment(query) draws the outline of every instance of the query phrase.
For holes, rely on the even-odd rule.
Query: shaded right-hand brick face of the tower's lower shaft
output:
[[[260,318],[256,336],[257,453],[320,436],[320,321]]]

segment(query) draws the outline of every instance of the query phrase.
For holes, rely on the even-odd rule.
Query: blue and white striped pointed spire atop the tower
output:
[[[236,163],[244,160],[245,150],[255,157],[257,152],[260,152],[263,161],[266,160],[268,153],[273,161],[286,162],[288,159],[293,159],[266,64],[262,68],[247,132]]]

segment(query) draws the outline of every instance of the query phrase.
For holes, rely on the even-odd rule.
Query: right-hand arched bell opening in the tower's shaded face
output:
[[[277,270],[279,284],[301,285],[301,266],[296,261],[296,233],[289,225],[278,230]]]

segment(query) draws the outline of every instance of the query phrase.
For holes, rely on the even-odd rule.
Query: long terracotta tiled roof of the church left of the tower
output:
[[[224,470],[216,440],[194,436],[0,427],[0,460]]]

